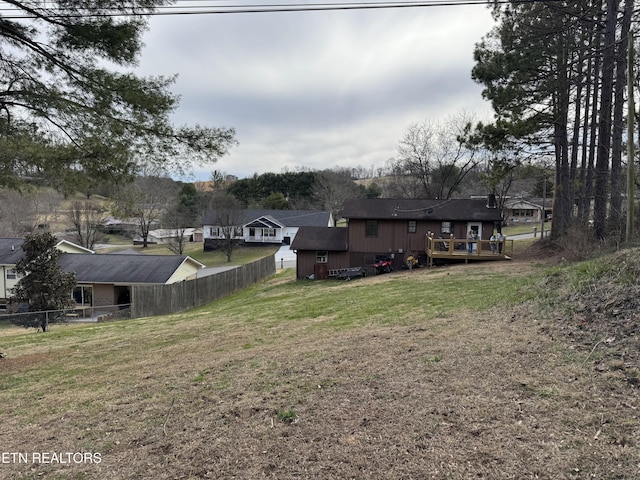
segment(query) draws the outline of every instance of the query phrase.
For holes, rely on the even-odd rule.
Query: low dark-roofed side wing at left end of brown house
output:
[[[300,227],[291,249],[296,251],[296,277],[327,278],[349,266],[348,230],[342,227]]]

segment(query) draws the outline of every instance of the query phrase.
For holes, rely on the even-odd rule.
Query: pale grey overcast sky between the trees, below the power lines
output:
[[[138,72],[173,75],[176,124],[236,129],[214,169],[383,167],[411,123],[490,116],[471,80],[482,5],[156,16]]]

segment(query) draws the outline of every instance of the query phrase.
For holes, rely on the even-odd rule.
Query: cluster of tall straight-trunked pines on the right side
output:
[[[496,25],[477,44],[472,77],[495,120],[476,138],[508,168],[547,158],[555,169],[554,238],[593,220],[598,239],[625,216],[625,125],[633,0],[494,2]],[[634,85],[637,89],[637,84]]]

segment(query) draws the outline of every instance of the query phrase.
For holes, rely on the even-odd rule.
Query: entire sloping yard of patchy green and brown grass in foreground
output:
[[[187,314],[0,329],[0,478],[638,478],[638,330],[591,329],[571,268],[285,271]]]

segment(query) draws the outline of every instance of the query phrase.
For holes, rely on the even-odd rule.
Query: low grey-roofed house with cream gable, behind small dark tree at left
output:
[[[18,283],[16,263],[22,258],[22,238],[0,238],[0,310],[5,310],[11,289]],[[130,303],[132,285],[165,285],[196,278],[203,264],[184,255],[95,254],[66,240],[59,264],[74,272],[73,296],[78,306],[99,307]]]

